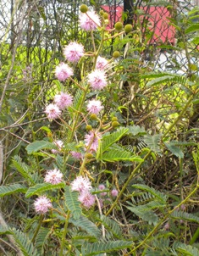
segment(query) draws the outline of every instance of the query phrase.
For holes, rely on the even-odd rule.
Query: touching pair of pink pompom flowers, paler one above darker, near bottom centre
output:
[[[95,203],[96,198],[91,194],[91,181],[88,178],[82,176],[77,176],[76,179],[71,183],[72,191],[77,191],[80,193],[79,201],[87,209]]]

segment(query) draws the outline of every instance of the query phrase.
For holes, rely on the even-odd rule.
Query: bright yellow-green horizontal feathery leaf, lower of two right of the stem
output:
[[[120,151],[117,149],[111,149],[110,151],[102,154],[102,160],[107,162],[115,161],[130,161],[130,162],[142,162],[143,159],[128,151]]]

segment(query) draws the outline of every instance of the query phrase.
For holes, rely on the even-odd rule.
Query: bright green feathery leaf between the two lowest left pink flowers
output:
[[[41,194],[41,192],[46,192],[48,190],[64,188],[64,186],[64,183],[58,183],[54,185],[50,183],[36,184],[36,186],[31,186],[28,189],[28,191],[25,193],[25,198],[30,198],[33,195],[38,195]]]

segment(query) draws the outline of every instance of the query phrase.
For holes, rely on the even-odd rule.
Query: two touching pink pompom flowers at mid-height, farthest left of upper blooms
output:
[[[73,97],[69,93],[60,92],[60,94],[55,95],[54,103],[47,105],[44,112],[49,120],[55,120],[61,115],[61,110],[68,108],[72,103]]]

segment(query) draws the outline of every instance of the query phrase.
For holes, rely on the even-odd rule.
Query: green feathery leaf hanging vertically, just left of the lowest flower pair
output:
[[[71,191],[70,186],[65,187],[64,198],[68,209],[73,214],[75,220],[81,215],[80,201],[78,200],[78,192]]]

